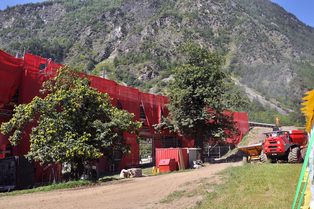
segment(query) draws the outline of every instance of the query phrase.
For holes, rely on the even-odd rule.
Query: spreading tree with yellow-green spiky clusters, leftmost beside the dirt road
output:
[[[84,71],[83,65],[60,68],[54,78],[43,84],[42,92],[50,93],[46,98],[35,97],[29,104],[17,106],[14,117],[1,126],[3,134],[15,130],[9,140],[17,145],[26,125],[34,124],[28,159],[69,162],[73,165],[72,179],[82,174],[82,159],[95,162],[103,157],[113,163],[113,151],[129,155],[131,144],[117,130],[139,136],[142,126],[133,122],[134,114],[113,107],[107,93],[91,88],[80,71]],[[37,123],[33,123],[36,119]]]

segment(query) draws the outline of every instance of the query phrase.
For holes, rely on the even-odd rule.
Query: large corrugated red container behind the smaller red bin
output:
[[[187,149],[182,150],[182,157],[184,162],[184,167],[187,168]],[[179,169],[179,148],[169,148],[169,149],[156,149],[156,167],[159,167],[159,162],[162,159],[172,159],[174,158],[176,161],[176,169]]]

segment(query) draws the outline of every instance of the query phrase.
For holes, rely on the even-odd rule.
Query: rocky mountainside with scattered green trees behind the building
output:
[[[166,94],[176,51],[198,41],[227,59],[231,77],[255,98],[249,120],[301,125],[303,94],[314,89],[314,28],[268,0],[53,0],[0,11],[0,45],[62,64],[85,63],[90,74],[141,91]],[[3,47],[4,46],[4,47]],[[242,87],[233,85],[230,91]],[[270,104],[268,104],[270,103]],[[294,111],[290,111],[294,110]],[[291,124],[292,123],[292,124]]]

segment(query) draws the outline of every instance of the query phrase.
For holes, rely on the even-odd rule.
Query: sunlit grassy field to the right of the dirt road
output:
[[[267,162],[228,167],[217,173],[224,183],[198,185],[196,190],[203,199],[197,201],[191,209],[291,208],[302,165]],[[183,196],[190,197],[190,194],[195,195],[195,191],[176,191],[160,203],[176,201]]]

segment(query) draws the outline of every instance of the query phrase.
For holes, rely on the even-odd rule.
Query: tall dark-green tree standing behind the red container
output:
[[[217,56],[198,43],[185,43],[179,51],[186,62],[177,67],[170,82],[169,115],[156,129],[167,127],[181,136],[194,139],[194,148],[199,148],[198,158],[203,159],[204,142],[225,141],[239,135],[233,114],[234,108],[248,103],[236,92],[227,93],[228,85],[222,65],[225,57]]]

